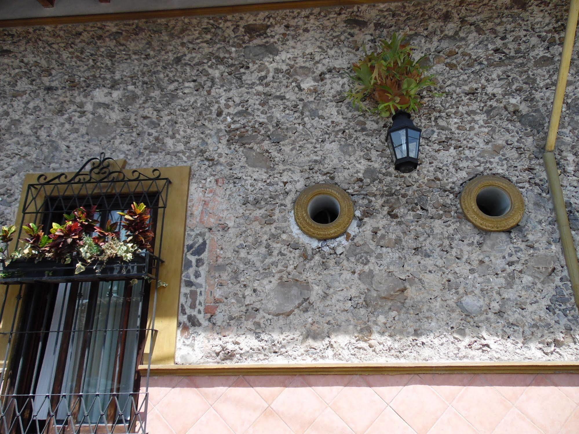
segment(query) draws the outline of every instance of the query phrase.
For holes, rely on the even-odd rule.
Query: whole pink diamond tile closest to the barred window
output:
[[[186,404],[187,411],[184,411],[180,404]],[[184,377],[155,408],[159,410],[175,433],[185,434],[209,409],[209,404],[197,392],[190,378]]]

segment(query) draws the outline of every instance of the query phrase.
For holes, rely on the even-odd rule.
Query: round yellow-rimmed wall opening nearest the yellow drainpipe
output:
[[[488,231],[512,229],[525,212],[519,189],[507,179],[494,175],[469,181],[460,196],[460,206],[469,222]]]

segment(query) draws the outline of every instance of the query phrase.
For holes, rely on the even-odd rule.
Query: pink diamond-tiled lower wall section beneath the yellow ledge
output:
[[[579,433],[579,374],[152,377],[150,434]]]

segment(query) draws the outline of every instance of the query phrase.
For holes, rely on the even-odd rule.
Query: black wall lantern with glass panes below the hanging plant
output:
[[[409,113],[400,111],[392,116],[387,139],[396,170],[408,173],[418,166],[420,133],[422,130],[414,126]]]

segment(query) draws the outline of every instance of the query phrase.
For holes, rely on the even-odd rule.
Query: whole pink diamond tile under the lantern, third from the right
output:
[[[422,378],[413,376],[390,407],[418,434],[428,432],[448,404]]]

